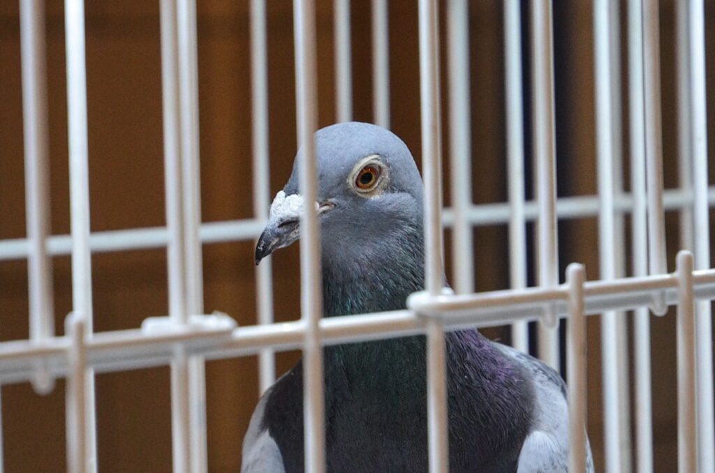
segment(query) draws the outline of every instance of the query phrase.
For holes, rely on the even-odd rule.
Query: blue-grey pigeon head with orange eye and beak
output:
[[[366,123],[340,123],[315,134],[317,201],[299,191],[303,149],[270,207],[256,247],[256,264],[300,237],[304,205],[315,207],[323,264],[355,254],[378,255],[404,231],[421,235],[422,179],[410,150],[392,132]],[[384,263],[384,261],[383,261]]]

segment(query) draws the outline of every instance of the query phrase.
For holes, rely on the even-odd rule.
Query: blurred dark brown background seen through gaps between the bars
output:
[[[319,124],[335,121],[332,2],[317,2]],[[392,129],[420,161],[418,18],[416,1],[389,2]],[[87,94],[92,231],[163,226],[164,171],[158,1],[87,0]],[[200,0],[198,13],[199,124],[203,221],[252,217],[251,94],[248,1]],[[69,233],[64,9],[46,2],[51,231]],[[370,2],[352,1],[354,116],[372,121]],[[441,6],[444,8],[444,5]],[[292,4],[268,1],[271,194],[290,174],[295,155],[295,85]],[[473,117],[473,199],[506,201],[503,5],[470,2],[470,70]],[[525,100],[529,86],[528,4],[523,3]],[[444,18],[444,11],[440,13]],[[554,1],[556,143],[559,196],[596,193],[593,109],[592,4]],[[674,1],[661,1],[661,81],[666,188],[678,185],[676,164],[676,83]],[[621,37],[626,34],[625,4]],[[444,39],[444,24],[442,25]],[[706,58],[709,61],[709,143],[715,153],[715,4],[706,2]],[[443,51],[442,60],[446,54]],[[627,104],[626,50],[622,49],[623,104]],[[0,239],[25,236],[19,6],[0,2]],[[443,84],[446,75],[443,74]],[[448,109],[443,87],[445,166]],[[530,107],[526,106],[527,130]],[[627,118],[623,106],[623,118]],[[627,159],[627,124],[623,156]],[[527,196],[531,186],[531,139],[527,131]],[[710,169],[713,169],[711,164]],[[448,171],[445,169],[445,179]],[[628,176],[624,176],[628,182]],[[712,181],[712,180],[711,180]],[[627,184],[626,184],[627,186]],[[448,189],[448,180],[445,181]],[[449,204],[445,193],[445,204]],[[711,219],[712,221],[712,219]],[[626,219],[628,223],[628,219]],[[669,262],[679,248],[678,215],[667,214]],[[531,225],[528,228],[533,235]],[[626,225],[628,231],[628,225]],[[475,235],[478,291],[508,287],[506,225],[480,226]],[[586,264],[598,277],[596,217],[561,221],[561,274],[569,262]],[[448,236],[449,237],[449,236]],[[628,238],[626,239],[628,240]],[[449,238],[446,239],[449,246]],[[530,259],[533,258],[530,247]],[[207,312],[220,310],[240,325],[255,324],[254,242],[207,244],[204,296]],[[448,247],[447,267],[450,269]],[[299,314],[297,245],[278,252],[275,262],[275,318]],[[71,309],[69,257],[55,257],[57,334]],[[96,331],[139,327],[149,316],[167,314],[164,249],[94,254],[92,258]],[[669,267],[673,269],[673,267]],[[530,266],[530,284],[534,284]],[[0,262],[0,341],[28,337],[27,270],[24,260]],[[675,329],[673,313],[653,318],[652,367],[656,471],[676,468]],[[601,362],[599,322],[588,322],[588,431],[601,469]],[[507,329],[489,337],[508,342]],[[277,373],[300,354],[277,356]],[[258,398],[255,357],[207,363],[209,470],[240,468],[241,443]],[[64,471],[64,381],[39,396],[29,384],[2,389],[6,472]],[[169,369],[141,369],[97,376],[99,469],[104,472],[171,471]]]

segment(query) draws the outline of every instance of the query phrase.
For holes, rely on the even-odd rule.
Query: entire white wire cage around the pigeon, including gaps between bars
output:
[[[305,467],[323,471],[321,345],[408,334],[428,337],[429,466],[446,471],[443,331],[467,326],[561,372],[597,471],[715,470],[711,3],[0,16],[5,471],[236,471],[259,394],[300,352]],[[300,265],[295,245],[258,267],[253,250],[298,145],[351,120],[395,131],[425,176],[427,292],[321,319],[315,219]]]

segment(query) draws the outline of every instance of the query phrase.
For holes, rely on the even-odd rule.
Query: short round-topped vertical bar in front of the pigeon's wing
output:
[[[586,471],[586,314],[583,312],[583,283],[586,270],[572,263],[566,270],[568,282],[568,471]]]

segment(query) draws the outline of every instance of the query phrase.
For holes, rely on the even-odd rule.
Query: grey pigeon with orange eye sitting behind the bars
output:
[[[424,289],[423,184],[391,131],[347,122],[315,134],[317,202],[298,188],[302,149],[271,204],[255,260],[321,234],[325,317],[405,309]],[[445,332],[452,472],[566,472],[568,403],[550,367],[475,329]],[[427,472],[425,337],[324,348],[328,472]],[[304,471],[302,363],[272,385],[245,435],[242,473]],[[593,471],[588,448],[587,472]]]

